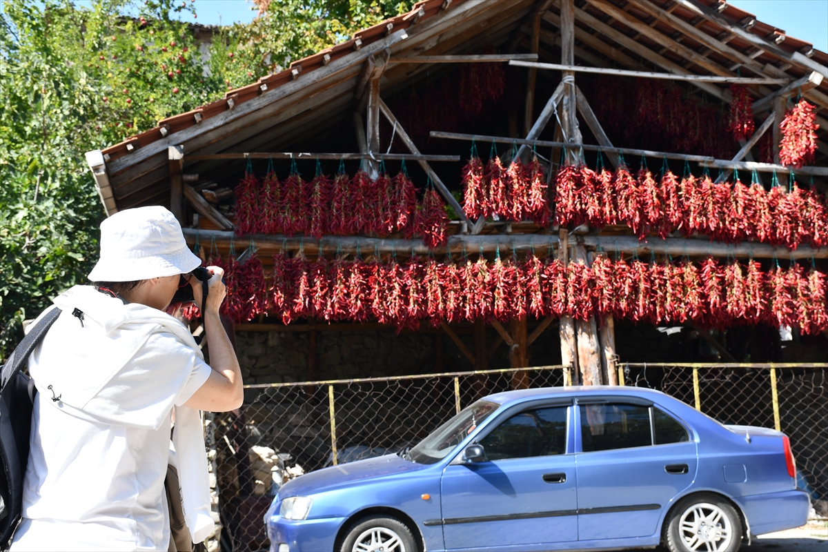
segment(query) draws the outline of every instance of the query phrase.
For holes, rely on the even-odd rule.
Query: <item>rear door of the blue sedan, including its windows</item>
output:
[[[649,536],[696,477],[696,442],[646,403],[579,400],[575,412],[578,539]]]

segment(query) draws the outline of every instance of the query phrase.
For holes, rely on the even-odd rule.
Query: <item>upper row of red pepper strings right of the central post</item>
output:
[[[785,192],[774,185],[766,191],[756,180],[746,185],[737,176],[732,183],[716,183],[710,175],[689,173],[679,180],[667,167],[657,180],[646,167],[633,176],[624,165],[614,173],[563,166],[555,183],[553,221],[561,226],[625,224],[638,238],[679,231],[789,249],[828,245],[826,199],[814,186],[792,184]]]

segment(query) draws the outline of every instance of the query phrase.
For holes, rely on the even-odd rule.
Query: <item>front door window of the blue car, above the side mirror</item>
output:
[[[480,444],[489,460],[566,453],[566,406],[526,410],[513,415]]]

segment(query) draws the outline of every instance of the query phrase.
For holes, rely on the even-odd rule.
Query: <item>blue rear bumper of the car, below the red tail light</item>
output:
[[[811,508],[811,498],[798,489],[739,497],[735,500],[748,518],[753,535],[804,526]]]

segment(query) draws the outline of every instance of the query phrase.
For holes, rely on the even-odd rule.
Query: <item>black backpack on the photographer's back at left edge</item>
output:
[[[0,367],[0,550],[7,550],[23,502],[23,476],[29,460],[31,410],[35,401],[35,384],[20,371],[31,352],[60,316],[51,310],[17,345],[7,362]]]

